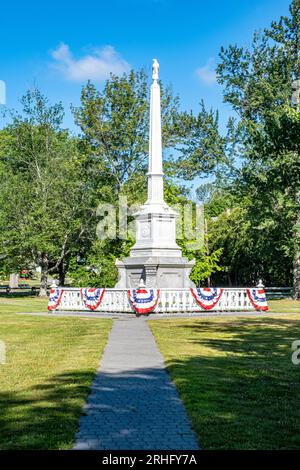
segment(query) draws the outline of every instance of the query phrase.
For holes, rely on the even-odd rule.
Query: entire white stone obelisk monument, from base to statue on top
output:
[[[146,287],[191,287],[189,279],[194,261],[182,257],[176,243],[176,217],[164,201],[162,166],[159,64],[152,65],[150,102],[150,139],[148,200],[135,214],[136,243],[130,256],[117,260],[118,288],[137,287],[141,280]]]

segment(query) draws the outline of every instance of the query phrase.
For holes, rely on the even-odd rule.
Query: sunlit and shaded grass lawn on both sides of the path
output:
[[[262,318],[150,322],[206,449],[300,448],[299,303],[269,302]],[[110,320],[15,315],[47,300],[0,297],[0,449],[68,449]]]

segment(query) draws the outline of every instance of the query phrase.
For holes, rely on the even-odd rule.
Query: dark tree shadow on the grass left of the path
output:
[[[94,372],[69,372],[23,392],[0,393],[0,449],[72,446]]]

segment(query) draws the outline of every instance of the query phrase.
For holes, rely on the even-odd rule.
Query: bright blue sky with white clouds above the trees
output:
[[[70,104],[79,103],[91,77],[99,88],[109,71],[133,67],[160,77],[179,93],[183,109],[220,111],[221,128],[231,112],[213,68],[220,47],[249,44],[254,30],[288,14],[289,0],[98,0],[8,2],[0,8],[0,80],[7,105],[33,83],[66,107],[65,126],[75,130]],[[2,119],[2,118],[0,118]],[[4,121],[2,120],[2,125]],[[1,122],[0,122],[1,126]]]

